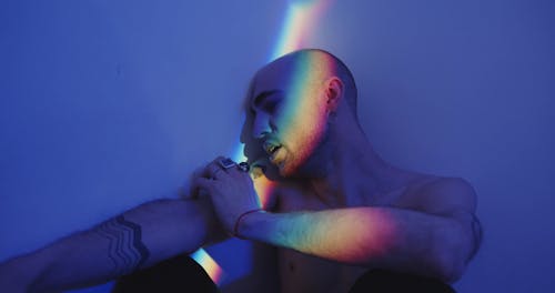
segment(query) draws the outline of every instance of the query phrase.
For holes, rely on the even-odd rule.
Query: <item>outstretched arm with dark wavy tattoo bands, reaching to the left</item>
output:
[[[213,219],[202,199],[149,202],[0,264],[0,287],[43,292],[101,284],[193,252],[216,233]]]

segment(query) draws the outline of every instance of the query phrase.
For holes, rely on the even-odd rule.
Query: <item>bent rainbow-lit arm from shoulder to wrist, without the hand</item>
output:
[[[238,233],[341,263],[454,282],[480,244],[474,191],[464,181],[444,180],[422,192],[424,211],[373,206],[261,211],[243,216]]]

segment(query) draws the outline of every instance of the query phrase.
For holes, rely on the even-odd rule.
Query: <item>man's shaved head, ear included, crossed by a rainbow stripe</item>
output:
[[[340,59],[316,49],[289,53],[259,70],[245,108],[245,155],[266,156],[282,175],[312,165],[310,158],[322,153],[332,128],[357,124],[351,72]]]

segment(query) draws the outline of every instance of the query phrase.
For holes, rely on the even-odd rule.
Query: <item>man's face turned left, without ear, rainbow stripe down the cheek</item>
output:
[[[261,70],[253,81],[248,103],[245,123],[250,125],[245,127],[282,176],[297,174],[326,132],[327,109],[322,78],[326,72],[312,70],[309,61],[281,60]]]

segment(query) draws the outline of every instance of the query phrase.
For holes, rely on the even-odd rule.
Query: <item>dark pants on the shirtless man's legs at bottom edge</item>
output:
[[[112,292],[219,292],[219,290],[202,266],[188,255],[179,255],[119,279]],[[359,277],[349,292],[452,293],[455,291],[434,279],[371,270]]]

